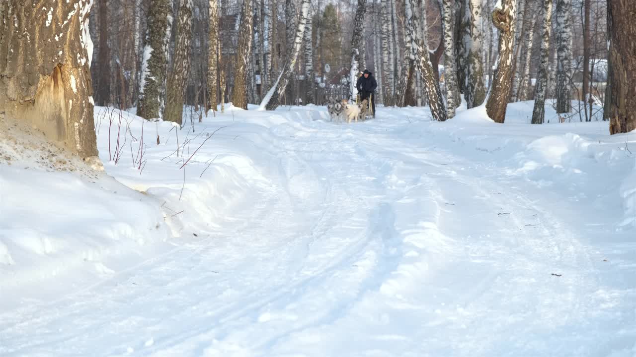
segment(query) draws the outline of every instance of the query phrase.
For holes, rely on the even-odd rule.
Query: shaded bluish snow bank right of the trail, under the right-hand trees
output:
[[[563,199],[598,196],[599,208],[616,208],[617,227],[633,227],[633,134],[611,136],[607,122],[580,123],[578,117],[559,123],[550,103],[546,104],[549,123],[530,125],[533,106],[532,101],[509,104],[504,125],[488,118],[484,106],[460,111],[446,123],[427,121],[425,116],[416,125],[429,140],[440,145],[450,140],[466,156],[506,168],[509,175],[525,177],[537,189],[550,187]]]

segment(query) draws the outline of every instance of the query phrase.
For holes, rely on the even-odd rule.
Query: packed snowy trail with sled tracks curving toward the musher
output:
[[[633,245],[581,239],[612,227],[378,117],[252,125],[275,163],[256,201],[95,285],[0,311],[0,355],[636,355],[635,267],[603,262]]]

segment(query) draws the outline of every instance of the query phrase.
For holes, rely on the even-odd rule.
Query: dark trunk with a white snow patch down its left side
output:
[[[162,118],[171,30],[172,0],[151,0],[137,106],[137,115],[144,119]]]

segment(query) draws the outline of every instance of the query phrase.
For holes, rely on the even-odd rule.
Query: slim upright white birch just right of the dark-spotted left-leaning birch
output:
[[[455,109],[459,107],[459,88],[457,88],[457,66],[455,65],[455,0],[442,0],[442,24],[444,41],[444,81],[446,89],[446,116],[448,119],[455,116]],[[462,16],[462,18],[464,18]],[[463,22],[463,21],[462,21]],[[460,36],[463,39],[463,36]],[[462,46],[464,47],[464,46]],[[464,48],[464,51],[466,49]],[[427,50],[428,52],[428,50]],[[428,56],[427,56],[428,58]],[[465,68],[462,72],[465,72]],[[432,65],[431,65],[432,69]]]

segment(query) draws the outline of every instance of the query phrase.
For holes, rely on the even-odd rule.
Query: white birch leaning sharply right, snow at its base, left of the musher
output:
[[[263,101],[261,102],[261,109],[265,108],[268,111],[276,109],[279,105],[280,97],[282,97],[285,92],[285,88],[289,83],[289,77],[291,77],[294,67],[296,66],[296,61],[298,61],[298,55],[300,55],[305,27],[307,25],[310,2],[310,0],[302,0],[301,2],[298,27],[296,28],[296,36],[294,36],[294,46],[291,51],[287,52],[282,72],[280,72],[278,79],[263,98]]]

